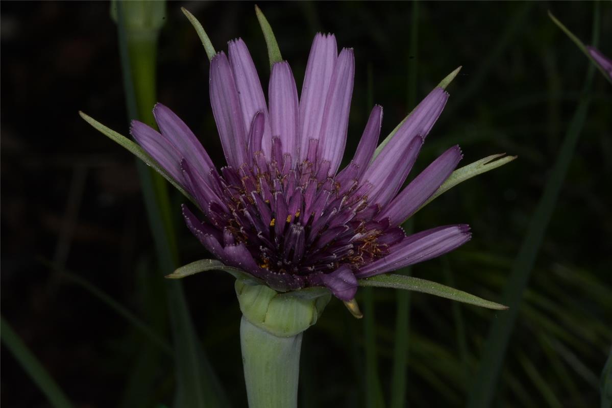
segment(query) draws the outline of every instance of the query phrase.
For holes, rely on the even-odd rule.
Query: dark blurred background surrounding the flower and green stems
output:
[[[250,47],[267,89],[267,54],[252,3],[169,2],[159,40],[158,99],[200,135],[217,165],[222,150],[208,100],[208,64],[185,6],[217,50],[234,37]],[[463,65],[446,111],[417,161],[424,168],[459,143],[463,164],[518,155],[510,165],[461,184],[415,217],[415,229],[469,223],[460,250],[413,269],[416,276],[499,300],[512,259],[550,175],[578,103],[588,60],[549,20],[551,9],[580,39],[591,38],[591,2],[423,2],[416,55],[409,53],[409,2],[259,2],[275,30],[298,89],[316,31],[355,49],[356,80],[348,154],[373,100],[385,108],[383,136],[407,106],[408,66],[416,58],[417,100]],[[2,316],[78,407],[126,406],[139,380],[154,384],[141,406],[171,404],[173,363],[156,355],[147,379],[136,375],[148,339],[48,262],[106,292],[147,322],[166,316],[155,297],[166,284],[155,268],[135,160],[80,119],[83,110],[127,135],[116,25],[108,2],[2,2],[1,185]],[[612,54],[612,9],[602,4],[600,50]],[[496,406],[592,407],[610,352],[612,86],[595,73],[593,103],[510,339]],[[417,174],[414,172],[413,174]],[[207,254],[179,220],[181,261]],[[450,270],[451,275],[444,273]],[[450,279],[450,280],[449,280]],[[240,312],[230,277],[184,281],[204,348],[234,406],[245,406]],[[375,292],[379,373],[389,396],[395,294]],[[359,298],[358,298],[359,299]],[[498,312],[424,294],[411,297],[409,401],[464,406],[469,377]],[[466,348],[457,341],[465,320]],[[163,327],[163,324],[161,324]],[[363,404],[362,321],[332,301],[304,337],[304,406]],[[167,333],[164,335],[168,336]],[[146,381],[151,381],[147,383]],[[2,346],[1,402],[48,402]],[[136,390],[136,391],[135,391]],[[553,398],[550,394],[552,393]],[[136,406],[136,405],[131,405]]]

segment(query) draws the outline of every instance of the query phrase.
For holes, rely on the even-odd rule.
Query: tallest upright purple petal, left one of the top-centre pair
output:
[[[299,161],[306,158],[308,141],[318,139],[321,133],[325,102],[337,57],[338,48],[334,35],[316,34],[310,48],[300,96]]]

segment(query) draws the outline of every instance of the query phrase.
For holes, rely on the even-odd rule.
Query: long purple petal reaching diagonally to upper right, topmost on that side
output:
[[[370,163],[365,171],[364,179],[371,180],[371,174],[387,172],[394,169],[397,163],[403,160],[403,147],[417,136],[427,137],[428,133],[442,113],[449,95],[442,88],[430,92],[419,106],[414,108],[403,125],[397,130],[394,137],[383,148],[380,154]]]

